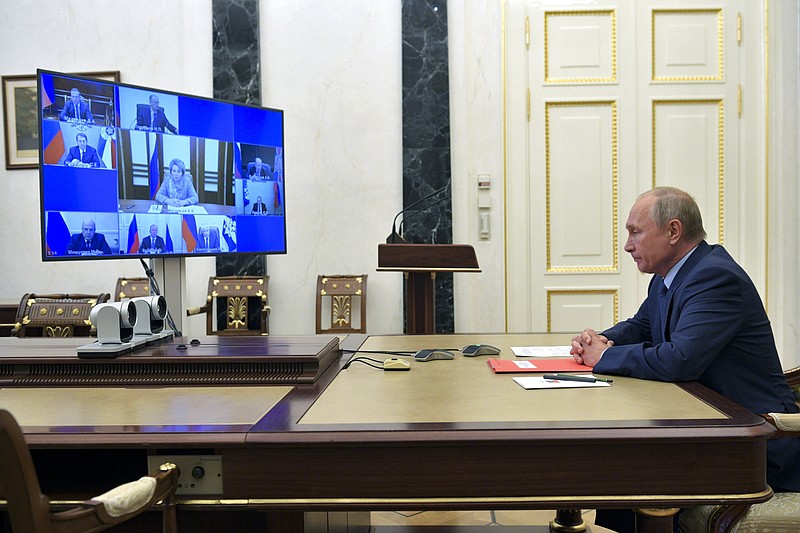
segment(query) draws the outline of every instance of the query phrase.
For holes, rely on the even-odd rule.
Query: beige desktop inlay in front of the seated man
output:
[[[370,337],[366,351],[403,351],[411,346],[461,348],[474,336]],[[552,339],[530,336],[481,336],[483,344],[501,348],[513,359],[511,346],[540,345]],[[413,341],[413,342],[411,342]],[[390,355],[363,353],[383,360]],[[413,358],[407,357],[411,360]],[[536,427],[650,427],[662,421],[724,421],[728,416],[678,385],[613,377],[611,387],[525,390],[512,376],[495,374],[487,356],[413,361],[409,371],[384,372],[353,363],[336,377],[300,420],[306,424],[414,424],[527,422]],[[496,425],[496,424],[495,424]]]

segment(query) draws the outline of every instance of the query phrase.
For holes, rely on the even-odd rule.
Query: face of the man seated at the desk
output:
[[[625,223],[628,230],[625,251],[631,254],[641,272],[666,276],[674,258],[668,229],[659,229],[650,216],[654,201],[654,197],[645,196],[633,204]]]

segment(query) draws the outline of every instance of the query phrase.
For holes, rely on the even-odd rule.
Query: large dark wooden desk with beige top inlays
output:
[[[513,358],[511,346],[568,338],[352,335],[343,347],[481,342]],[[14,396],[12,412],[55,498],[92,496],[141,475],[147,455],[219,455],[221,493],[183,497],[179,520],[191,522],[186,512],[197,509],[261,511],[237,531],[263,529],[265,521],[301,531],[303,511],[674,508],[771,495],[772,429],[697,384],[615,377],[609,388],[526,391],[493,374],[485,356],[414,362],[408,372],[341,370],[346,359],[316,382],[288,388],[144,389],[133,402],[130,392],[95,388],[99,396],[69,404],[83,394],[47,389],[45,403],[58,406],[49,411],[35,400],[42,390],[0,389],[0,405]],[[217,400],[223,415],[212,414]],[[87,475],[97,464],[99,479]],[[669,517],[642,521],[648,531],[671,531]],[[212,524],[204,518],[190,530]]]

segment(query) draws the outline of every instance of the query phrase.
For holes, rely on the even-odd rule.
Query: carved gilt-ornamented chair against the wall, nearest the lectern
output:
[[[361,300],[357,326],[353,325],[353,298]],[[322,309],[330,309],[330,324],[322,323]],[[326,313],[327,315],[327,313]],[[367,275],[317,276],[317,333],[367,332]]]

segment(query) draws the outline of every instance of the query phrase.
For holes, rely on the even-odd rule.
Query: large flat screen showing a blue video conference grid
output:
[[[283,111],[38,70],[42,259],[286,253]]]

